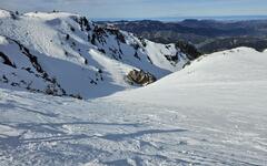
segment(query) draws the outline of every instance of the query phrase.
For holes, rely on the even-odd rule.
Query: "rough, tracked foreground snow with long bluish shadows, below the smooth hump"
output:
[[[0,165],[267,164],[265,112],[0,94]]]

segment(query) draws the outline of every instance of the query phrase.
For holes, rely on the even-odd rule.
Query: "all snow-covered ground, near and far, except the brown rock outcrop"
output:
[[[79,15],[0,10],[0,165],[267,165],[267,52],[188,62]],[[118,92],[132,69],[178,72]]]

